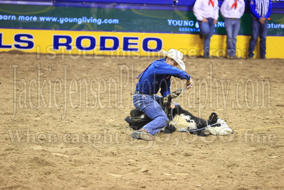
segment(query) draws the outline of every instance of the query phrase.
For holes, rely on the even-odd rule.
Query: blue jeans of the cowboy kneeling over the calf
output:
[[[155,100],[159,96],[150,96],[147,94],[134,94],[133,104],[134,107],[143,113],[145,113],[153,121],[144,125],[145,129],[149,134],[154,135],[161,129],[163,129],[169,122],[166,113]]]

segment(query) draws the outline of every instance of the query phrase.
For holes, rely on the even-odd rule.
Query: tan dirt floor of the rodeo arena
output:
[[[0,189],[283,190],[284,60],[186,57],[177,103],[235,133],[145,142],[124,118],[153,59],[1,53]]]

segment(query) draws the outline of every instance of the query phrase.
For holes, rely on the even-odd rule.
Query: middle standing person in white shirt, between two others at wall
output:
[[[224,0],[220,12],[224,18],[227,33],[227,57],[236,58],[237,34],[240,27],[239,19],[244,13],[244,0]]]

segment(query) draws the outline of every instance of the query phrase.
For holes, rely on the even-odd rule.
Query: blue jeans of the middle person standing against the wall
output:
[[[235,56],[236,55],[236,43],[237,43],[237,34],[239,31],[240,23],[239,19],[224,19],[225,29],[227,33],[227,55]]]

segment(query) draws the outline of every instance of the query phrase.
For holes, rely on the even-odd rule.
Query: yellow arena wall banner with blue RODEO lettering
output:
[[[248,54],[250,36],[237,36],[237,55]],[[211,54],[219,58],[226,55],[226,36],[213,35]],[[267,37],[268,58],[284,58],[282,36]],[[1,29],[0,52],[19,50],[26,53],[69,54],[72,58],[110,56],[155,56],[157,51],[175,48],[194,58],[202,55],[203,42],[198,34],[105,32],[70,30]],[[256,48],[256,51],[259,47]],[[255,55],[256,57],[257,55]]]

